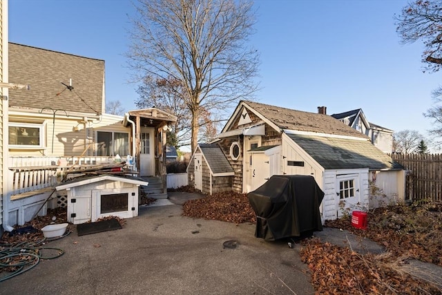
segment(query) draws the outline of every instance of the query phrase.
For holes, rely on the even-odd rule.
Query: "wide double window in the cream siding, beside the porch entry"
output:
[[[129,134],[97,131],[97,155],[128,155]]]

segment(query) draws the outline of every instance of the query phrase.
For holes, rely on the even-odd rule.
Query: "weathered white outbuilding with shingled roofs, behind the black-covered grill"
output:
[[[367,135],[320,113],[241,101],[210,152],[204,147],[198,146],[188,167],[189,185],[204,193],[213,193],[218,183],[231,183],[231,190],[249,193],[271,175],[312,175],[325,192],[320,207],[323,220],[377,206],[378,195],[386,201],[404,196],[405,173],[400,165]],[[231,170],[222,164],[223,174],[216,175],[213,167],[224,159]]]

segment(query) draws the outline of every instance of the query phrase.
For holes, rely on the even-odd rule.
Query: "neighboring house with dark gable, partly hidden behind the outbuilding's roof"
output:
[[[325,107],[322,106],[318,110],[323,111],[325,115]],[[368,122],[361,108],[345,113],[333,114],[332,117],[367,135],[372,144],[384,153],[392,153],[394,131]]]

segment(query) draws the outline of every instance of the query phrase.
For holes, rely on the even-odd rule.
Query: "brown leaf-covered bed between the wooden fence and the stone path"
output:
[[[365,230],[352,227],[349,216],[327,220],[327,227],[347,229],[383,245],[395,256],[442,266],[442,204],[398,204],[368,212]]]

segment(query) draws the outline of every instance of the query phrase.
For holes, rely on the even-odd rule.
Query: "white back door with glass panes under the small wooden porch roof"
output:
[[[153,128],[142,127],[140,133],[140,176],[155,175]]]

